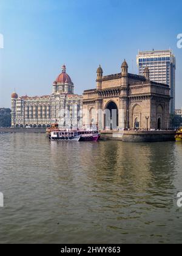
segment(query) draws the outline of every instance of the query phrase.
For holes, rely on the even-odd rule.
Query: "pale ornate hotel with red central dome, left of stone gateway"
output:
[[[74,85],[62,66],[62,73],[53,82],[52,94],[18,96],[12,94],[12,127],[81,126],[83,96],[74,94]]]

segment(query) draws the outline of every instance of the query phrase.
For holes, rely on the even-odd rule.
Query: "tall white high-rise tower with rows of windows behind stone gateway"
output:
[[[175,55],[171,50],[138,52],[136,63],[140,76],[146,66],[150,70],[150,80],[170,87],[170,113],[175,112]]]

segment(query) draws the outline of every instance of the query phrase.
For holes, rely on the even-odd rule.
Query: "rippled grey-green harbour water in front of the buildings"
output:
[[[181,243],[182,143],[0,145],[0,243]]]

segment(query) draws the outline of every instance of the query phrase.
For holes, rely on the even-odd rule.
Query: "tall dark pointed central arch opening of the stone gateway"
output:
[[[118,128],[118,107],[113,101],[108,102],[104,110],[104,127],[107,130]]]

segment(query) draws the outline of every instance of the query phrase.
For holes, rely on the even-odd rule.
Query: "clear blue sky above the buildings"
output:
[[[10,94],[52,93],[63,63],[75,93],[95,88],[96,68],[119,73],[124,59],[138,73],[138,49],[169,49],[177,59],[177,106],[182,106],[181,0],[0,0],[0,107]]]

